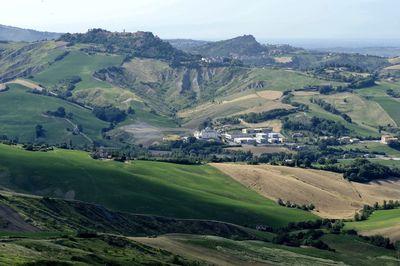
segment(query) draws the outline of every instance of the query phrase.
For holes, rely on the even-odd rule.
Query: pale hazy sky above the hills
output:
[[[0,24],[162,38],[400,39],[400,0],[0,0]]]

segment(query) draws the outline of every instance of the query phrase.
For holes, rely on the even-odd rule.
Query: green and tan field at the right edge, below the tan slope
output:
[[[356,229],[363,235],[383,235],[400,240],[400,209],[379,210],[365,221],[347,222],[346,229]]]

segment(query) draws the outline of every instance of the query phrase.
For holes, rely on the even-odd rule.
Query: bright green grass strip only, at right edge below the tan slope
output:
[[[347,222],[346,229],[356,229],[360,232],[400,226],[400,209],[375,211],[365,221]]]

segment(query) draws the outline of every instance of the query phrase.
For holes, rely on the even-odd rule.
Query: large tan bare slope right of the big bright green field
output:
[[[400,199],[400,180],[360,184],[327,171],[271,165],[212,164],[260,195],[314,204],[326,218],[351,218],[364,204]]]

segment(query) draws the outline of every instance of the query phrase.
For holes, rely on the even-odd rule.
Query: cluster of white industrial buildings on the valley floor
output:
[[[240,132],[225,132],[219,134],[211,128],[196,131],[194,137],[197,139],[222,139],[235,144],[279,144],[284,143],[285,138],[272,131],[272,128],[244,128]]]

